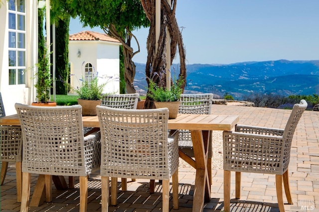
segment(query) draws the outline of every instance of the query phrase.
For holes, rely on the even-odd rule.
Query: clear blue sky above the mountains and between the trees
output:
[[[186,64],[319,60],[319,0],[178,0],[176,19]],[[71,20],[70,34],[83,30],[103,32]],[[146,63],[149,29],[134,33]]]

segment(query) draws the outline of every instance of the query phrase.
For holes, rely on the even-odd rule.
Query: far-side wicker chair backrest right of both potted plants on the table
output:
[[[210,114],[213,94],[182,94],[178,113]]]

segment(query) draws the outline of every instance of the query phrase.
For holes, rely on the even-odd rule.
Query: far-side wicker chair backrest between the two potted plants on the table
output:
[[[113,108],[136,109],[140,94],[110,94],[103,97],[101,106]]]

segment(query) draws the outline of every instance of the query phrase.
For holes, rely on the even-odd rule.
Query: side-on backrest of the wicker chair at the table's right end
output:
[[[286,127],[283,133],[283,139],[285,142],[284,159],[283,159],[283,170],[287,170],[290,161],[290,150],[293,140],[293,136],[297,127],[297,124],[307,108],[308,104],[305,100],[301,100],[299,104],[295,104],[289,119],[287,121]]]

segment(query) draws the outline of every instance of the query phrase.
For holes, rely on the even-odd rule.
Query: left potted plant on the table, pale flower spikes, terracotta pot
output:
[[[80,96],[77,101],[82,106],[82,115],[96,115],[96,106],[101,105],[106,83],[99,84],[97,76],[90,83],[83,77],[80,81],[81,86],[73,90]]]

